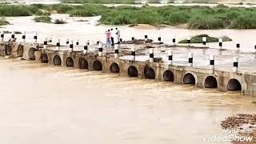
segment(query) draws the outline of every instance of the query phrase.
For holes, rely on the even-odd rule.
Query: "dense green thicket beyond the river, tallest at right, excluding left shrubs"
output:
[[[142,7],[120,6],[107,8],[90,5],[70,10],[70,16],[102,15],[101,22],[110,25],[162,24],[175,26],[187,23],[190,29],[254,29],[255,8],[228,8],[218,6],[162,6]]]

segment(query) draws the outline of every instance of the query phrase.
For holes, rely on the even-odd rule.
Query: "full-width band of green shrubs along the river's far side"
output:
[[[153,26],[186,24],[190,29],[256,29],[256,8],[230,8],[223,5],[209,6],[134,6],[106,7],[86,3],[81,6],[56,5],[0,5],[2,16],[29,16],[38,11],[90,17],[102,15],[100,22],[107,25]]]

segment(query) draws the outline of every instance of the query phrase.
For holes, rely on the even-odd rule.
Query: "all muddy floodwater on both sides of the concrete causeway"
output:
[[[33,33],[37,31],[38,42],[46,37],[54,38],[54,42],[61,38],[63,44],[69,38],[80,39],[83,45],[88,39],[104,42],[105,30],[114,27],[96,26],[100,17],[70,18],[67,14],[52,14],[51,17],[68,23],[60,26],[35,23],[34,17],[10,17],[7,20],[12,25],[1,30],[26,31],[27,42],[33,41]],[[224,42],[223,47],[234,50],[239,40],[242,51],[254,51],[253,35],[256,34],[256,30],[118,27],[125,40],[132,36],[144,38],[144,34],[148,34],[154,40],[162,36],[167,44],[174,36],[182,39],[195,34],[227,35],[234,42]],[[21,41],[21,34],[16,37]],[[10,34],[6,34],[5,40],[9,38]],[[209,46],[218,48],[218,43]],[[205,53],[218,54],[212,49],[193,51],[197,57]],[[155,52],[164,57],[161,51]],[[174,52],[176,63],[178,60],[185,62],[187,50],[175,48]],[[230,65],[227,62],[232,59],[231,52],[224,51],[223,55],[228,58],[218,56],[216,63],[224,67]],[[254,63],[254,58],[247,56],[239,54],[241,66],[248,68],[248,62]],[[202,62],[206,61],[202,58],[197,66],[204,66]],[[18,59],[0,58],[0,75],[0,143],[3,144],[216,143],[203,142],[202,136],[222,135],[221,122],[227,117],[256,113],[255,97],[237,92],[222,93]]]

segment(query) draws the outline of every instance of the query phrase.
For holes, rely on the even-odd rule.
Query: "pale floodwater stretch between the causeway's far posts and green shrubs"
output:
[[[172,43],[172,38],[176,38],[176,41],[192,37],[197,34],[209,34],[213,37],[228,36],[233,39],[232,42],[223,42],[223,48],[228,50],[235,50],[236,43],[241,44],[240,50],[254,52],[254,46],[256,45],[254,35],[256,30],[187,30],[175,27],[166,27],[162,29],[156,29],[151,26],[141,26],[137,28],[129,26],[97,26],[100,16],[93,18],[70,18],[68,14],[52,14],[53,19],[63,19],[67,24],[55,25],[42,22],[34,22],[34,16],[31,17],[9,17],[7,20],[12,24],[9,26],[3,26],[0,30],[16,30],[26,31],[26,38],[28,42],[33,42],[34,32],[38,32],[39,42],[47,38],[54,38],[54,42],[57,42],[58,38],[61,39],[62,44],[66,44],[66,39],[73,39],[74,42],[79,39],[81,44],[84,44],[87,40],[91,42],[97,42],[98,40],[106,42],[105,31],[110,28],[118,27],[121,30],[121,38],[124,40],[130,40],[131,37],[144,38],[147,34],[149,38],[157,41],[158,37],[162,37],[162,41],[166,44]],[[82,22],[81,22],[82,21]],[[86,21],[86,22],[85,22]],[[18,40],[22,40],[22,34],[17,35]],[[10,39],[10,34],[6,35],[6,41]],[[218,48],[218,43],[207,44],[210,47]],[[198,46],[198,45],[194,45]],[[202,44],[199,44],[202,46]]]

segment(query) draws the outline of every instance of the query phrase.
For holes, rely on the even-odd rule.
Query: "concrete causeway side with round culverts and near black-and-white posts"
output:
[[[36,37],[35,39],[37,39]],[[119,50],[121,50],[120,46],[122,45],[124,44],[116,45],[114,50],[106,52],[106,50],[102,50],[101,42],[98,45],[82,46],[82,50],[74,50],[73,41],[66,42],[66,46],[61,46],[59,41],[56,44],[52,44],[48,40],[41,44],[2,41],[0,56],[48,63],[54,66],[98,70],[103,73],[117,73],[124,77],[190,84],[200,88],[213,88],[219,91],[238,90],[241,91],[241,94],[256,96],[256,74],[239,71],[238,58],[234,58],[234,70],[215,69],[214,56],[210,58],[210,68],[194,67],[192,53],[187,58],[187,66],[177,66],[172,62],[171,49],[166,54],[168,62],[156,62],[152,49],[150,49],[150,61],[142,62],[135,60],[134,48],[126,50],[128,51],[126,54],[121,53]],[[90,48],[94,49],[95,47],[97,48],[96,50],[90,51]],[[131,59],[120,58],[124,55],[130,55]]]

